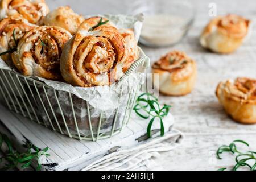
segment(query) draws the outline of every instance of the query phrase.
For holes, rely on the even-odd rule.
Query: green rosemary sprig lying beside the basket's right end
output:
[[[151,118],[147,126],[148,137],[151,137],[151,127],[156,118],[160,121],[160,135],[164,135],[163,118],[167,116],[170,107],[164,105],[161,108],[158,99],[150,93],[143,93],[137,98],[136,105],[133,108],[135,113],[143,119]]]

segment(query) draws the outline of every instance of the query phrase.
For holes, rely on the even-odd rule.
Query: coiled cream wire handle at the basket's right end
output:
[[[142,51],[142,50],[141,50]],[[143,52],[142,52],[143,53]],[[121,84],[123,81],[125,81],[131,73],[133,73],[138,67],[142,66],[143,72],[150,67],[150,58],[145,56],[143,53],[143,56],[139,57],[138,60],[136,60],[133,64],[131,64],[130,68],[127,69],[125,74],[119,78],[117,85]]]

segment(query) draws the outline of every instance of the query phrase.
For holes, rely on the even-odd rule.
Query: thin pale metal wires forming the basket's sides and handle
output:
[[[146,56],[142,56],[140,59],[135,61],[135,63],[131,65],[130,69],[125,73],[125,75],[119,80],[119,82],[117,83],[117,86],[121,84],[124,80],[126,80],[126,78],[129,77],[129,75],[132,72],[134,72],[135,69],[137,69],[139,66],[143,66],[143,68],[146,69],[149,65],[149,62],[150,60]],[[71,93],[68,93],[68,96],[69,96],[69,101],[71,103],[71,109],[72,109],[72,114],[73,114],[73,119],[75,122],[75,128],[76,128],[77,134],[71,133],[71,129],[68,127],[67,121],[64,117],[63,109],[61,109],[61,104],[59,102],[59,98],[57,97],[56,90],[53,89],[51,86],[48,86],[38,80],[34,80],[33,78],[23,76],[20,73],[16,73],[6,69],[0,69],[0,85],[1,85],[0,93],[2,95],[2,100],[6,103],[7,107],[9,107],[10,110],[14,110],[15,113],[22,114],[24,117],[30,118],[32,121],[35,121],[40,125],[44,125],[48,127],[46,121],[42,119],[43,120],[42,122],[40,119],[40,115],[36,111],[38,110],[36,109],[36,107],[38,103],[37,101],[39,100],[39,103],[42,104],[43,111],[46,113],[47,119],[53,131],[58,131],[61,134],[68,135],[70,138],[76,138],[80,140],[93,140],[93,141],[96,141],[98,139],[110,138],[113,135],[119,133],[127,125],[127,123],[130,120],[131,111],[133,110],[133,105],[137,96],[137,92],[141,87],[141,85],[138,85],[137,88],[133,89],[133,92],[129,93],[125,114],[122,119],[121,126],[118,129],[116,129],[115,126],[117,123],[119,107],[116,109],[112,129],[110,132],[106,132],[106,133],[101,132],[102,115],[104,114],[103,111],[101,111],[100,113],[97,133],[95,134],[93,132],[89,103],[86,101],[90,135],[83,136],[81,135],[79,126],[77,125],[77,119],[75,115],[74,103],[72,101]],[[43,101],[42,89],[39,90],[39,88],[43,89],[43,94],[46,96],[48,105],[46,105],[45,102]],[[57,101],[57,106],[59,107],[60,114],[61,114],[61,119],[62,119],[61,123],[64,123],[64,127],[61,127],[60,121],[56,117],[55,110],[53,109],[51,101],[47,94],[47,89],[53,89],[53,93]],[[41,91],[41,95],[40,95],[40,91]],[[120,98],[122,97],[122,94],[123,93],[119,95]],[[53,121],[51,117],[49,117],[50,113],[48,113],[47,109],[51,110],[51,114],[53,115],[53,118],[54,118]],[[56,125],[54,125],[54,123]]]

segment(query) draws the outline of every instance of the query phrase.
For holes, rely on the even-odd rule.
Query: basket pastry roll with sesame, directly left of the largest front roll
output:
[[[60,80],[60,56],[71,36],[61,27],[36,27],[20,39],[13,63],[23,75]]]

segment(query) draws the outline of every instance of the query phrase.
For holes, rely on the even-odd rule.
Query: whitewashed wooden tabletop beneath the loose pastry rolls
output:
[[[133,1],[118,0],[46,0],[51,9],[70,5],[77,13],[104,14],[125,13],[126,3]],[[256,78],[256,28],[249,42],[231,55],[217,55],[200,47],[199,35],[209,20],[208,5],[212,1],[197,0],[195,23],[187,37],[180,44],[167,48],[147,48],[144,51],[152,61],[168,51],[178,49],[197,61],[199,75],[196,88],[184,97],[160,96],[162,103],[172,105],[175,116],[175,128],[183,131],[183,145],[174,151],[163,153],[156,161],[166,170],[215,170],[231,167],[233,160],[218,161],[215,152],[222,144],[229,144],[235,139],[243,139],[256,150],[256,125],[246,126],[233,122],[222,109],[214,95],[219,81],[237,76]],[[214,1],[217,14],[237,13],[256,20],[256,2],[251,1]],[[242,8],[240,8],[242,7]]]

